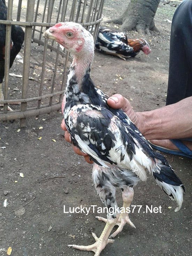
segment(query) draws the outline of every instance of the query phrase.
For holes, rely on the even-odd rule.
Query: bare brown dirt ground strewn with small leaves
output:
[[[124,61],[95,53],[92,78],[96,86],[108,95],[123,94],[136,111],[165,105],[171,28],[168,20],[172,19],[176,7],[172,2],[163,3],[155,16],[160,32],[145,36],[152,49],[147,58],[139,53]],[[126,1],[107,0],[104,20],[118,15],[118,10],[125,6]],[[110,26],[117,29],[114,24]],[[128,35],[139,36],[136,32]],[[12,70],[16,73],[16,66]],[[20,132],[17,132],[18,120],[0,124],[0,255],[6,255],[8,247],[12,247],[11,255],[15,256],[94,255],[67,247],[67,244],[93,243],[91,232],[99,236],[104,223],[95,218],[98,214],[93,213],[93,209],[88,215],[64,213],[64,205],[65,211],[81,205],[103,205],[91,180],[92,166],[75,155],[64,140],[61,120],[60,112],[30,118]],[[39,137],[42,139],[38,140]],[[101,256],[191,255],[192,161],[165,156],[185,184],[182,209],[175,213],[175,202],[148,177],[147,182],[140,182],[134,189],[132,205],[142,205],[140,213],[137,208],[130,213],[136,229],[125,226]],[[20,177],[20,173],[24,177]],[[121,206],[120,191],[117,197]],[[3,207],[5,199],[6,208]],[[162,212],[143,213],[146,205],[161,206]]]

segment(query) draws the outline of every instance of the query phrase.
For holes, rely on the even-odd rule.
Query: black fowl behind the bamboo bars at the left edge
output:
[[[5,0],[0,0],[0,20],[7,20],[7,6]],[[9,68],[12,67],[17,54],[21,50],[24,41],[24,31],[20,26],[12,25],[10,45],[10,62]],[[0,24],[0,100],[3,100],[2,82],[5,75],[5,41],[6,25]],[[8,107],[8,110],[12,110]]]

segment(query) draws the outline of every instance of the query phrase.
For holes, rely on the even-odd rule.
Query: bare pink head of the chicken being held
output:
[[[57,41],[74,55],[83,50],[94,52],[93,36],[75,22],[60,22],[47,29],[43,37]]]

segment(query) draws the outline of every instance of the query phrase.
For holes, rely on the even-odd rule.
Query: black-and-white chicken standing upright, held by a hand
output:
[[[123,207],[133,199],[133,186],[138,180],[146,181],[146,170],[157,184],[175,199],[178,211],[183,202],[184,186],[161,154],[153,151],[140,131],[121,109],[110,108],[107,96],[95,88],[90,78],[94,57],[94,39],[80,24],[58,23],[44,32],[45,38],[54,39],[73,54],[67,88],[64,118],[73,144],[93,159],[93,182],[102,202],[108,207],[107,219],[100,237],[90,246],[69,245],[80,250],[94,251],[100,255],[115,225],[116,236],[126,223],[134,227],[128,213],[119,211],[116,188],[121,188]],[[65,100],[64,100],[65,101]],[[111,211],[111,209],[113,211]],[[110,213],[111,212],[111,213]]]

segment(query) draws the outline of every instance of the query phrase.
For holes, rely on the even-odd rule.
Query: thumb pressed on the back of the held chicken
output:
[[[121,94],[114,94],[113,96],[109,97],[107,103],[111,108],[123,109],[125,112],[127,112],[130,108],[132,109],[131,103]]]

